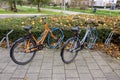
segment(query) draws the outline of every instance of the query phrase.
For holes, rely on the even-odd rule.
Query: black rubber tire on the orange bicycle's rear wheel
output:
[[[34,56],[35,56],[35,54],[36,54],[36,51],[34,51],[32,57],[31,57],[28,61],[26,61],[26,62],[19,62],[19,61],[17,61],[17,60],[15,59],[14,49],[16,48],[16,46],[17,46],[18,43],[20,43],[20,42],[22,42],[22,41],[25,41],[25,39],[26,39],[26,38],[20,38],[20,39],[16,40],[16,41],[13,43],[13,45],[12,45],[12,47],[11,47],[11,49],[10,49],[10,57],[11,57],[11,59],[13,60],[13,62],[15,62],[16,64],[19,64],[19,65],[25,65],[25,64],[29,63],[29,62],[34,58]],[[35,45],[36,45],[35,42],[34,42],[32,39],[31,39],[31,41],[32,41],[32,44],[35,46]]]

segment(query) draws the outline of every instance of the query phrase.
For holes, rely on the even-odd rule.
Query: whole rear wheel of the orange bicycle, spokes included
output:
[[[36,51],[25,52],[28,41],[30,50],[35,46],[35,42],[31,39],[20,38],[12,45],[10,49],[10,57],[16,64],[25,65],[29,63],[35,56]]]

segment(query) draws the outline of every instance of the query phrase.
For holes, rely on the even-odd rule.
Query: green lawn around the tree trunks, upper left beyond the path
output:
[[[18,12],[12,12],[10,10],[4,10],[0,8],[0,14],[47,14],[47,15],[61,15],[60,12],[53,12],[53,11],[47,11],[47,10],[41,10],[41,12],[38,12],[36,8],[28,8],[28,7],[21,7],[17,6]]]

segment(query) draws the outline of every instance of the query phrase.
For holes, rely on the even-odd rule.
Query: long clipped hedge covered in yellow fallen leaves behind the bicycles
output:
[[[70,16],[49,16],[45,22],[49,23],[50,28],[52,27],[59,27],[63,29],[65,40],[71,37],[71,28],[73,26],[80,26],[83,31],[80,34],[82,38],[85,34],[85,21],[87,18],[95,19],[95,25],[97,24],[98,28],[98,42],[104,42],[107,38],[110,31],[113,30],[114,27],[117,27],[117,32],[114,34],[112,42],[120,45],[120,17],[107,17],[107,16],[95,16],[95,15],[70,15]],[[98,21],[101,21],[102,24],[99,24]],[[13,33],[10,35],[10,39],[15,41],[19,37],[24,36],[25,31],[23,27],[27,25],[33,25],[32,32],[33,34],[38,37],[44,31],[44,21],[41,17],[37,18],[7,18],[7,19],[0,19],[0,40],[2,39],[5,34],[14,29]],[[94,26],[91,24],[91,26]]]

